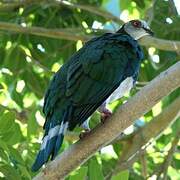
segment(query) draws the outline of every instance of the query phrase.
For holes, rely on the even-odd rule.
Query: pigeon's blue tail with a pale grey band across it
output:
[[[45,164],[49,157],[53,160],[58,154],[60,149],[64,134],[68,129],[68,111],[63,113],[61,123],[57,123],[57,114],[54,114],[50,120],[47,121],[45,125],[45,135],[42,140],[42,144],[36,160],[32,166],[32,171],[37,171],[43,164]]]

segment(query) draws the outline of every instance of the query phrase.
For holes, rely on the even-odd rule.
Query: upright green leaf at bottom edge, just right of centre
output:
[[[98,163],[97,158],[93,157],[88,163],[88,177],[89,180],[103,180],[102,167]]]

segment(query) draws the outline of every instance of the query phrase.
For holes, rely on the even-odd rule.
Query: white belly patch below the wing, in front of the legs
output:
[[[109,96],[109,98],[106,100],[106,104],[116,101],[117,99],[120,99],[124,96],[124,94],[128,93],[131,88],[133,87],[133,78],[128,77],[126,78],[120,86]]]

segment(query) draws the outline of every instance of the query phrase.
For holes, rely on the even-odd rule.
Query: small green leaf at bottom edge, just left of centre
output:
[[[82,168],[78,169],[75,174],[70,176],[69,180],[85,180],[87,171],[88,168],[83,166]]]

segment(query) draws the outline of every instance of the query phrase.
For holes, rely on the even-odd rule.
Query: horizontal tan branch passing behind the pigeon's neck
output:
[[[55,39],[64,39],[71,41],[88,41],[93,36],[92,35],[82,35],[77,34],[69,29],[47,29],[42,27],[24,27],[18,24],[6,23],[0,21],[0,30],[10,31],[15,33],[25,33],[32,34],[37,36],[55,38]],[[167,51],[180,51],[180,42],[179,41],[170,41],[164,39],[158,39],[151,36],[145,36],[139,40],[140,44],[143,46],[153,46],[157,49],[167,50]]]

